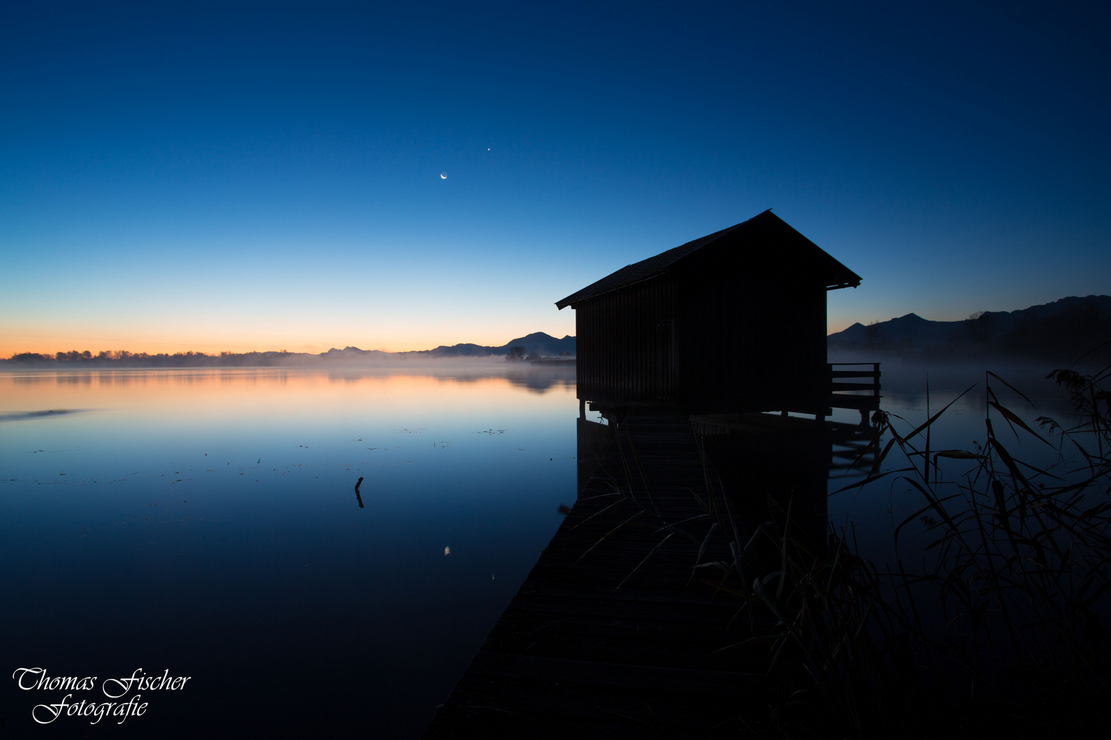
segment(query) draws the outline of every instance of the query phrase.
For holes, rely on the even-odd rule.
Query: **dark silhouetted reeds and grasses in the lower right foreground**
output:
[[[773,618],[769,635],[722,648],[767,651],[769,673],[784,687],[770,717],[742,724],[777,738],[1103,736],[1111,719],[1111,394],[1103,387],[1111,366],[1049,377],[1074,406],[1070,424],[1044,416],[1028,424],[995,394],[999,385],[1018,389],[987,373],[985,442],[971,450],[931,446],[931,427],[952,402],[905,434],[895,424],[904,419],[873,416],[861,459],[874,453],[874,462],[837,493],[884,480],[917,497],[918,509],[892,533],[897,548],[911,533],[924,537],[913,565],[869,561],[851,525],[830,527],[825,541],[799,534],[792,500],[769,496],[767,521],[738,520],[737,491],[714,480],[700,440],[705,490],[691,491],[704,511],[694,517],[699,529],[693,520],[663,523],[657,531],[665,536],[637,569],[681,534],[699,545],[692,580],[734,599],[738,614]],[[997,426],[1052,447],[1057,463],[1023,462]],[[651,487],[631,442],[625,486],[612,480],[638,513],[618,528],[655,513],[651,494],[649,506],[633,496],[633,469]],[[1067,462],[1073,455],[1079,464]],[[729,556],[703,561],[707,551]],[[748,572],[767,575],[750,581],[745,564],[762,564]]]

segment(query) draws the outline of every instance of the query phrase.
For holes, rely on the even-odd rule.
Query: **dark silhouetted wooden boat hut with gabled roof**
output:
[[[858,285],[859,275],[764,211],[556,305],[575,311],[579,398],[595,407],[822,416],[825,292]]]

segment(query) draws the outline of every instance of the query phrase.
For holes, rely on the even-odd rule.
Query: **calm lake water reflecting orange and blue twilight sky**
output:
[[[923,420],[927,369],[885,365],[883,407]],[[931,409],[983,378],[930,373]],[[1001,374],[1038,405],[1000,388],[1024,418],[1068,410],[1042,368]],[[933,447],[982,442],[984,403],[981,384]],[[574,501],[577,416],[573,368],[0,373],[3,668],[98,677],[6,678],[6,729],[418,737]],[[839,494],[829,514],[883,557],[904,488]],[[103,696],[167,671],[189,680]],[[148,707],[32,721],[67,693]]]

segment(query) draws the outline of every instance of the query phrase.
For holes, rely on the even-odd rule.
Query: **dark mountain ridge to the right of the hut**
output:
[[[831,351],[922,353],[930,357],[1013,355],[1075,359],[1111,339],[1111,296],[1070,296],[1021,311],[938,322],[907,314],[830,334]]]

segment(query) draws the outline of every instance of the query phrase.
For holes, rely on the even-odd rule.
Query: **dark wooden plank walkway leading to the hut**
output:
[[[655,409],[630,414],[620,429],[621,447],[607,453],[437,708],[427,740],[735,736],[768,717],[767,652],[719,650],[772,622],[760,611],[753,622],[749,609],[738,616],[735,598],[692,578],[711,518],[680,525],[700,541],[661,529],[704,514],[691,493],[707,499],[689,419]],[[613,493],[612,479],[628,489],[625,466],[635,500]],[[724,543],[717,537],[702,561],[731,560]],[[750,581],[762,575],[759,564],[745,568]],[[698,572],[712,579],[713,570]]]

